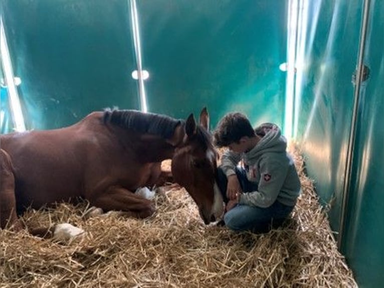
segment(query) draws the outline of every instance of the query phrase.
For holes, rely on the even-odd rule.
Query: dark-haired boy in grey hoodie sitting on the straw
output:
[[[300,180],[280,128],[264,123],[254,129],[235,112],[220,120],[214,137],[216,146],[229,148],[218,168],[225,225],[252,232],[281,225],[296,204]]]

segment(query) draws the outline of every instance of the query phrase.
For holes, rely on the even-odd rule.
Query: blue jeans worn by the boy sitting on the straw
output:
[[[236,167],[236,176],[244,193],[257,191],[258,184],[248,181],[244,168]],[[228,180],[220,167],[218,168],[218,182],[223,199],[227,204]],[[271,226],[274,228],[280,226],[292,210],[293,206],[284,205],[277,200],[267,208],[237,204],[224,215],[224,222],[231,230],[265,233]]]

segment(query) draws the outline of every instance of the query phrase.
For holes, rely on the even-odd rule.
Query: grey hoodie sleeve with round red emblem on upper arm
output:
[[[240,204],[267,208],[276,201],[287,176],[288,163],[284,159],[264,157],[259,169],[258,191],[241,194]]]

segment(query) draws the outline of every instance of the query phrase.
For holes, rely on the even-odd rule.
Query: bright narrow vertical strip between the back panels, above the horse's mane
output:
[[[139,81],[139,96],[141,111],[147,112],[147,100],[144,89],[144,79],[142,74],[141,64],[141,45],[140,45],[140,33],[139,33],[139,21],[137,16],[136,0],[130,0],[131,20],[132,20],[132,34],[133,44],[135,49],[136,64],[137,64],[137,77]]]

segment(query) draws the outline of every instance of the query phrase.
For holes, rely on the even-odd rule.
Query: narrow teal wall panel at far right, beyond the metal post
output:
[[[342,251],[360,287],[384,283],[384,2],[370,1]]]

